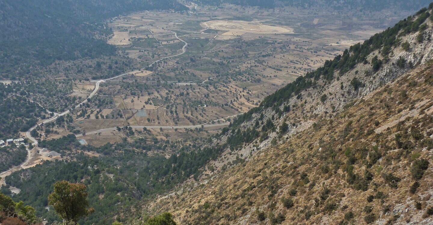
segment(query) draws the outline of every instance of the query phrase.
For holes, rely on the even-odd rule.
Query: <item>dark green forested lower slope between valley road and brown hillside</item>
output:
[[[71,134],[60,139],[44,140],[39,145],[62,152],[72,151],[75,143],[75,136]],[[165,143],[169,144],[175,145]],[[81,152],[74,156],[76,162],[45,162],[34,168],[13,173],[6,177],[6,184],[21,189],[13,199],[31,204],[38,216],[52,222],[58,217],[54,212],[44,208],[48,204],[47,196],[54,182],[83,182],[89,190],[90,205],[96,212],[82,223],[109,224],[113,222],[110,219],[113,216],[132,213],[134,209],[139,209],[139,200],[165,193],[191,176],[197,178],[203,165],[210,158],[216,159],[222,151],[222,147],[198,150],[197,147],[178,145],[173,146],[178,152],[169,158],[158,154],[148,155],[143,151],[158,145],[157,140],[152,143],[140,140],[129,143],[125,140],[122,143],[106,144],[101,147],[80,146],[84,152],[98,152],[101,156],[89,157]],[[26,179],[23,179],[22,175]],[[7,188],[2,188],[1,191],[10,194]],[[130,219],[132,218],[120,218],[121,221]]]

